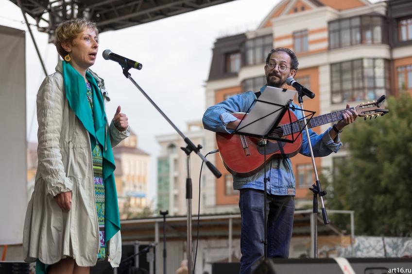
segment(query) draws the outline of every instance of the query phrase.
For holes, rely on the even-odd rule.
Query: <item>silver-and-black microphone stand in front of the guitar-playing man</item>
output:
[[[300,104],[300,109],[303,115],[303,122],[305,125],[305,131],[306,131],[306,139],[308,139],[309,143],[309,151],[310,151],[310,158],[312,159],[312,166],[313,166],[313,171],[315,173],[315,184],[312,185],[311,188],[309,188],[310,191],[313,192],[313,258],[318,258],[318,195],[321,200],[322,204],[322,216],[323,216],[323,222],[325,225],[329,224],[329,219],[327,218],[327,213],[325,209],[325,203],[323,201],[323,196],[326,195],[326,191],[322,191],[321,183],[319,181],[318,177],[318,171],[316,169],[316,163],[315,163],[315,158],[313,156],[313,150],[312,150],[312,144],[310,142],[310,135],[309,135],[309,129],[308,129],[308,124],[306,122],[306,116],[305,112],[303,111],[303,96],[305,96],[304,92],[302,92],[301,88],[295,88],[297,93],[298,93],[298,101]]]

